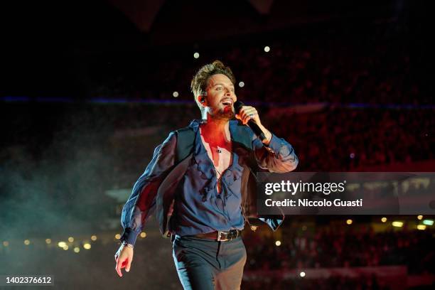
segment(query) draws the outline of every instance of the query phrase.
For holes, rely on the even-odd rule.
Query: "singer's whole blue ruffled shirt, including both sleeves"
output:
[[[189,125],[195,131],[193,158],[178,183],[169,230],[181,236],[215,230],[242,230],[245,221],[241,208],[241,180],[249,152],[237,142],[232,143],[232,163],[222,172],[222,190],[218,193],[215,166],[200,138],[200,122],[193,120]],[[235,126],[237,121],[230,121],[230,133]],[[298,163],[292,146],[274,134],[269,145],[264,146],[252,132],[252,150],[258,166],[271,172],[289,172],[294,170]],[[173,167],[175,154],[176,134],[171,133],[163,144],[156,147],[153,159],[136,182],[129,200],[124,205],[124,234],[121,240],[130,244],[136,241],[144,222],[155,208],[157,189]]]

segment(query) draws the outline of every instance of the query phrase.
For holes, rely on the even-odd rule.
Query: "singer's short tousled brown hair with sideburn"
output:
[[[190,83],[190,90],[192,90],[193,95],[195,96],[195,102],[198,104],[198,107],[201,108],[198,100],[196,100],[196,97],[206,91],[208,79],[212,75],[217,75],[219,73],[226,75],[231,80],[232,85],[235,85],[235,77],[232,74],[230,67],[226,67],[220,60],[215,60],[213,63],[204,65],[193,76],[192,82]]]

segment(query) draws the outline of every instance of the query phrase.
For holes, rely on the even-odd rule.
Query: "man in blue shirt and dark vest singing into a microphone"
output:
[[[172,237],[184,289],[240,289],[247,176],[255,168],[293,171],[298,159],[288,142],[262,125],[257,109],[242,106],[235,114],[235,77],[220,61],[200,68],[190,87],[202,119],[171,132],[134,184],[122,210],[116,269],[119,276],[122,268],[129,272],[136,237],[155,210],[161,232]],[[245,126],[249,120],[263,132],[262,140]],[[276,230],[282,219],[262,221]]]

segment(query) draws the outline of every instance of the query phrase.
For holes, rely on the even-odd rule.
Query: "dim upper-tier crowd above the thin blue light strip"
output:
[[[425,48],[414,37],[404,23],[359,30],[327,26],[279,32],[273,41],[269,35],[235,46],[228,41],[223,48],[204,45],[198,60],[185,51],[163,59],[151,57],[151,52],[148,57],[120,58],[109,68],[94,60],[89,95],[171,100],[177,91],[178,100],[191,100],[195,70],[218,58],[230,65],[237,83],[244,83],[237,88],[240,97],[252,102],[431,104],[434,90],[421,56]]]

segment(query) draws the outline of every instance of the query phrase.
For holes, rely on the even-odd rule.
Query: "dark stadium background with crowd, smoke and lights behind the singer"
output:
[[[190,80],[215,59],[235,73],[237,97],[294,146],[298,171],[434,171],[430,1],[299,2],[2,4],[0,274],[52,274],[59,289],[180,289],[154,221],[122,279],[115,235],[154,147],[200,117]],[[246,230],[242,289],[433,286],[433,227],[380,218],[301,216],[274,233]],[[68,237],[67,250],[57,246]],[[392,266],[406,270],[391,271],[395,284],[299,276]]]

